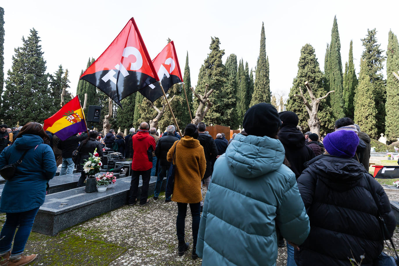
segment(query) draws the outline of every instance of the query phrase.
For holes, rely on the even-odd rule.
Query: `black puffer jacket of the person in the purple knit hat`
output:
[[[297,183],[310,233],[300,251],[295,250],[296,264],[350,265],[348,258],[359,261],[364,254],[361,265],[371,266],[383,250],[378,211],[390,232],[386,238],[396,226],[381,185],[356,160],[324,154],[309,162]]]

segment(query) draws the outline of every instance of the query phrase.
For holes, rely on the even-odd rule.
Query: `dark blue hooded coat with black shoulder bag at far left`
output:
[[[17,162],[26,149],[28,152],[16,174],[4,185],[0,199],[0,211],[4,213],[20,213],[43,205],[47,181],[57,171],[51,147],[43,144],[40,136],[30,134],[17,138],[14,144],[3,150],[0,168]]]

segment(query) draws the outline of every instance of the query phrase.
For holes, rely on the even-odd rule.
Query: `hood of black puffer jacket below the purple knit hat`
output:
[[[365,173],[364,167],[355,159],[322,154],[309,161],[309,169],[328,187],[347,191],[355,187]]]

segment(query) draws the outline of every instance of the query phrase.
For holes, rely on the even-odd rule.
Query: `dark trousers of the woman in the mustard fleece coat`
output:
[[[197,245],[197,236],[199,229],[199,220],[201,219],[199,214],[199,203],[190,203],[192,221],[192,231],[193,231],[193,246]],[[176,234],[179,245],[184,244],[184,224],[187,214],[187,203],[177,203],[177,219],[176,219]]]

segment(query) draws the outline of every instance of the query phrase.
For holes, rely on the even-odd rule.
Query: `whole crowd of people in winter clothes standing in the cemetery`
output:
[[[350,258],[376,265],[396,220],[383,188],[368,173],[370,138],[350,118],[336,120],[331,131],[321,138],[303,134],[294,112],[278,113],[266,103],[249,108],[242,132],[229,140],[223,133],[213,139],[204,122],[188,124],[183,136],[174,125],[158,136],[142,122],[126,136],[92,130],[64,141],[38,123],[10,132],[0,125],[0,168],[26,154],[0,199],[6,213],[0,256],[8,263],[0,265],[36,258],[22,252],[57,164],[62,164],[60,174],[72,173],[72,152],[78,150],[81,186],[82,164],[95,149],[102,156],[104,147],[132,159],[130,206],[150,202],[151,176],[157,176],[153,200],[158,200],[164,177],[173,171],[173,193],[165,202],[177,203],[179,256],[190,248],[184,226],[190,205],[191,257],[201,257],[203,266],[275,265],[277,247],[285,245],[287,266],[350,265]]]

